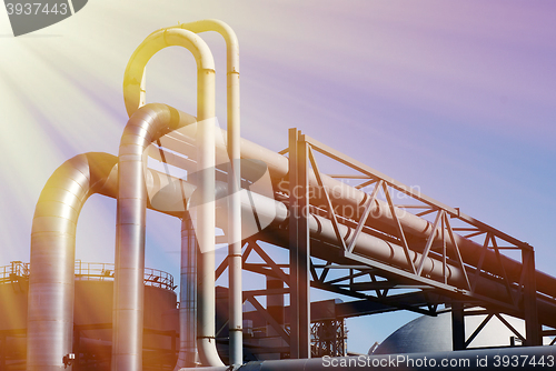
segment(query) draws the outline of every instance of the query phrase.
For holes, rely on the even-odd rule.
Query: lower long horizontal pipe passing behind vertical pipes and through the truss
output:
[[[117,179],[117,167],[112,169],[112,174],[108,177],[108,181],[101,190],[101,193],[108,197],[116,197],[113,191],[117,189],[113,183]],[[226,198],[227,186],[219,182],[216,189],[216,210],[217,210],[217,225],[222,228],[225,232],[227,231],[227,204]],[[151,209],[161,211],[172,215],[182,215],[182,211],[176,209],[176,203],[181,202],[182,198],[190,199],[195,192],[195,187],[183,180],[179,180],[172,177],[168,177],[156,170],[148,170],[147,172],[147,190],[149,194],[160,194],[155,205],[149,205]],[[166,209],[163,207],[167,207]],[[260,195],[255,192],[247,193],[246,190],[241,191],[241,212],[242,212],[242,234],[254,235],[260,232],[260,227],[270,225],[279,228],[281,225],[287,225],[287,220],[289,218],[289,210],[282,202],[272,200],[270,198]],[[331,221],[327,218],[309,214],[309,229],[311,238],[322,240],[330,245],[337,244],[337,238],[331,224]],[[354,230],[346,225],[339,225],[340,234],[346,238],[353,235]],[[278,240],[278,239],[277,239]],[[374,235],[361,233],[355,245],[356,253],[383,261],[385,263],[398,267],[407,268],[407,259],[403,247],[399,244],[385,241],[383,239],[376,238]],[[311,254],[319,257],[321,253],[329,254],[329,251],[321,252],[318,250],[312,250]],[[419,252],[410,251],[410,259],[414,261],[419,261],[421,254]],[[468,274],[470,272],[467,272]],[[429,277],[431,279],[441,281],[444,277],[444,269],[441,257],[435,259],[435,257],[429,255],[424,260],[423,275]],[[447,263],[446,275],[449,284],[456,287],[465,285],[465,278],[461,269],[453,263]],[[507,291],[503,282],[499,280],[493,280],[487,278],[479,278],[476,285],[478,294],[496,299],[499,301],[507,301]],[[556,311],[556,305],[553,302],[548,302],[544,299],[538,298],[538,312],[542,323],[556,325],[556,319],[554,319],[554,312]],[[508,314],[516,315],[517,313],[508,312]]]

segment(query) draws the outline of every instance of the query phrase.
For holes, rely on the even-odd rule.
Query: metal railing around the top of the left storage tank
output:
[[[17,281],[19,278],[29,278],[30,264],[12,261],[9,265],[0,267],[0,283]],[[76,260],[76,279],[85,281],[113,280],[115,265],[112,263],[88,263]],[[165,271],[146,268],[143,281],[146,285],[173,291],[173,277]]]

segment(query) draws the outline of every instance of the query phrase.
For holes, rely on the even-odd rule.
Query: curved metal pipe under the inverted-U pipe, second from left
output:
[[[168,131],[196,122],[166,104],[147,104],[129,119],[120,142],[112,370],[142,369],[147,147]]]

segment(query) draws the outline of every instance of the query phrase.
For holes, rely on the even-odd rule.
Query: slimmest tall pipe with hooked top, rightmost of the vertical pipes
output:
[[[183,23],[182,29],[195,33],[216,31],[226,40],[227,118],[228,118],[228,270],[229,270],[229,361],[244,363],[242,291],[241,291],[241,204],[240,182],[240,114],[239,114],[239,43],[234,30],[222,21],[208,19]]]

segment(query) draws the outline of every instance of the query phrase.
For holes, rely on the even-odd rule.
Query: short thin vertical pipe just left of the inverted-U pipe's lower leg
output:
[[[188,212],[181,220],[181,274],[179,303],[179,355],[175,370],[197,362],[197,240]]]

